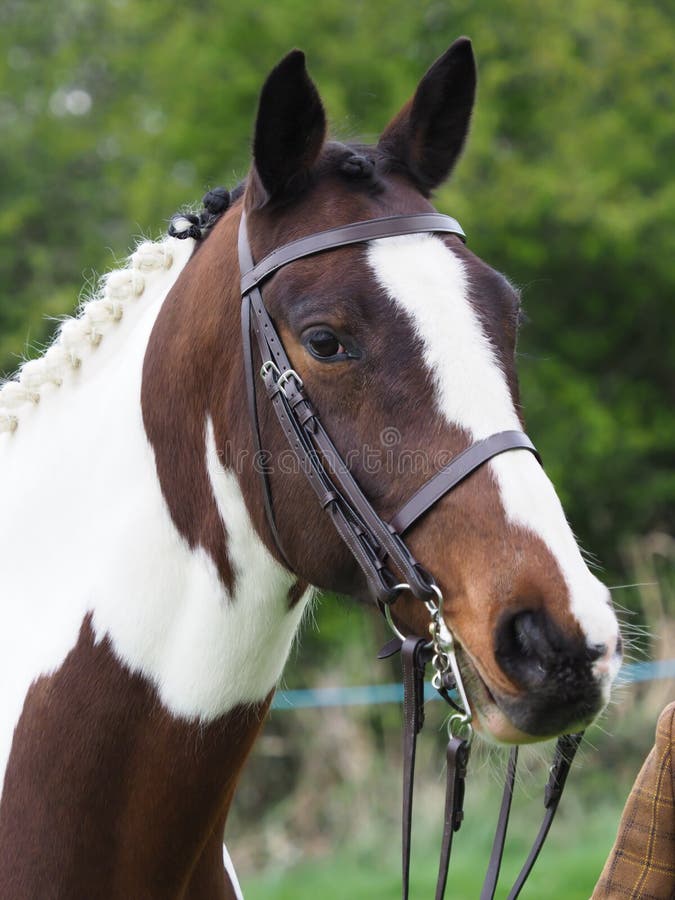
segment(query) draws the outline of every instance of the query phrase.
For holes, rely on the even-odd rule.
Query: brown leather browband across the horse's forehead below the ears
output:
[[[343,225],[339,228],[330,228],[327,231],[318,231],[307,237],[299,238],[277,247],[259,263],[241,276],[241,293],[248,294],[250,290],[261,284],[266,278],[296,259],[304,256],[312,256],[321,253],[322,250],[334,250],[336,247],[346,247],[349,244],[360,244],[375,238],[398,237],[403,234],[418,234],[424,231],[445,232],[456,234],[463,241],[466,235],[457,219],[444,216],[441,213],[422,213],[414,216],[385,216],[382,219],[367,219],[364,222],[353,222],[351,225]]]

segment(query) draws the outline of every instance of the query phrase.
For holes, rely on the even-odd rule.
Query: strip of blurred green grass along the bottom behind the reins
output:
[[[394,773],[392,773],[392,777]],[[394,786],[392,785],[392,789]],[[469,783],[469,795],[476,790]],[[572,792],[574,793],[574,788]],[[578,788],[577,788],[578,790]],[[569,799],[569,798],[566,798]],[[438,797],[439,804],[442,797]],[[475,804],[474,804],[475,806]],[[582,900],[588,898],[598,880],[604,859],[609,852],[622,804],[603,803],[584,814],[575,802],[563,807],[553,826],[549,841],[530,876],[523,898],[540,900]],[[574,815],[570,811],[574,810]],[[440,809],[437,811],[440,817]],[[530,802],[528,811],[516,816],[509,835],[509,843],[502,868],[503,889],[497,897],[506,896],[525,860],[529,844],[539,825],[540,804]],[[488,818],[489,816],[489,818]],[[483,874],[489,858],[492,829],[496,822],[494,810],[485,804],[473,809],[473,821],[468,820],[455,836],[453,858],[446,894],[453,900],[474,900],[479,896]],[[423,828],[424,837],[415,831],[411,877],[412,897],[434,895],[438,866],[439,834],[432,835]],[[397,829],[388,838],[382,835],[383,846],[364,848],[358,841],[359,823],[354,823],[354,839],[319,860],[307,860],[289,868],[271,868],[259,876],[242,879],[246,900],[396,900],[400,897],[400,874]]]

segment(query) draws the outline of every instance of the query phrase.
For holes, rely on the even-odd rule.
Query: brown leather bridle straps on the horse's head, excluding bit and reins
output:
[[[251,332],[260,350],[260,375],[289,446],[319,503],[362,569],[375,600],[382,607],[393,603],[402,589],[402,583],[420,600],[432,603],[438,599],[439,592],[433,577],[414,559],[401,537],[402,533],[488,459],[506,450],[526,449],[535,455],[537,451],[522,431],[503,431],[478,441],[413,494],[394,516],[392,523],[384,522],[352,477],[305,393],[302,379],[291,366],[265,308],[261,285],[283,266],[306,256],[376,238],[430,231],[464,237],[459,223],[449,216],[438,213],[390,216],[355,222],[300,238],[277,248],[254,265],[244,213],[239,227],[239,265],[243,273],[242,340],[256,452],[260,459],[264,458],[256,406]],[[267,520],[282,558],[292,569],[277,530],[268,473],[264,466],[260,469]],[[392,571],[392,566],[398,574]]]

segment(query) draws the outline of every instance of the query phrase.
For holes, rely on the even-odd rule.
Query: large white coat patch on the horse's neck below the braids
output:
[[[68,390],[28,410],[31,427],[0,434],[0,784],[31,684],[61,667],[89,613],[96,639],[109,638],[171,713],[208,721],[267,696],[309,597],[288,610],[293,578],[255,533],[210,423],[232,596],[162,495],[141,413],[143,360],[189,243],[176,242],[173,268],[91,353],[86,377],[74,372]]]

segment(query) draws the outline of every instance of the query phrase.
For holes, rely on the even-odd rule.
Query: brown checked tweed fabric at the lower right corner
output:
[[[675,900],[675,702],[656,726],[592,900]]]

